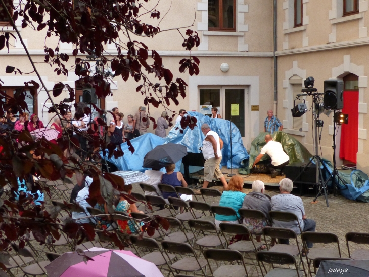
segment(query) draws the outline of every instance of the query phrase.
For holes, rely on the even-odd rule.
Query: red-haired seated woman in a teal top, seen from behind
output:
[[[219,206],[230,207],[236,211],[237,217],[240,218],[238,210],[242,208],[242,203],[246,196],[242,191],[243,180],[240,176],[233,176],[230,178],[228,183],[228,188],[225,190],[220,197]],[[238,224],[238,218],[236,216],[225,216],[225,215],[215,215],[215,225],[219,227],[221,222]]]

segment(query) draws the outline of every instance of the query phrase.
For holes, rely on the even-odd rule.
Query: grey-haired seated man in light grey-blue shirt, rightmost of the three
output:
[[[271,210],[294,213],[300,223],[303,232],[315,232],[315,221],[307,219],[301,197],[291,194],[293,188],[292,180],[285,178],[280,182],[281,194],[271,197]],[[273,220],[273,227],[289,228],[296,234],[300,234],[297,222],[283,222]],[[280,239],[280,243],[289,244],[288,239]],[[307,247],[312,248],[312,243],[307,242]]]

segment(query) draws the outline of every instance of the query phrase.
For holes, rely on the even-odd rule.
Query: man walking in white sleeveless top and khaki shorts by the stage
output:
[[[215,176],[216,179],[219,179],[224,188],[228,187],[227,181],[224,178],[223,173],[220,171],[219,164],[222,160],[222,154],[220,149],[223,148],[223,141],[219,137],[219,135],[212,131],[208,124],[203,124],[201,126],[201,131],[205,136],[202,147],[202,154],[204,156],[205,164],[204,164],[204,184],[203,188],[207,188],[209,182],[213,180]],[[196,194],[201,194],[200,190],[194,191]]]

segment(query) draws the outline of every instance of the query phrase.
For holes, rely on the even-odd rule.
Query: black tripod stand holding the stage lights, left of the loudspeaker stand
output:
[[[296,176],[296,178],[293,180],[293,182],[295,182],[302,173],[305,172],[305,170],[309,167],[310,164],[314,163],[315,164],[315,183],[311,183],[311,182],[298,182],[300,184],[310,184],[310,185],[316,185],[320,187],[320,190],[318,192],[318,194],[316,195],[314,202],[316,201],[317,197],[319,195],[324,195],[325,199],[326,199],[326,204],[327,207],[329,207],[328,204],[328,196],[327,196],[327,183],[324,183],[323,181],[323,173],[321,171],[320,166],[323,165],[325,167],[325,165],[323,164],[321,157],[319,156],[319,152],[318,152],[318,136],[319,136],[319,131],[318,128],[320,127],[320,120],[319,120],[319,111],[317,109],[316,104],[319,104],[319,95],[321,95],[321,93],[317,93],[316,89],[313,89],[315,91],[313,91],[313,93],[311,91],[307,91],[308,89],[303,90],[305,92],[307,92],[307,94],[302,94],[302,95],[298,95],[298,96],[308,96],[308,95],[312,95],[313,96],[313,116],[314,116],[314,148],[313,148],[313,157],[311,158],[311,160],[309,161],[309,163],[307,163],[307,165],[304,167],[304,169]],[[323,193],[322,193],[323,192]]]

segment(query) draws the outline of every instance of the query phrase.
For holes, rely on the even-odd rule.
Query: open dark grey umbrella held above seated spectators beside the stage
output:
[[[175,143],[159,145],[145,155],[143,167],[159,170],[167,165],[175,164],[186,155],[186,146]]]

